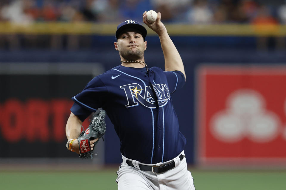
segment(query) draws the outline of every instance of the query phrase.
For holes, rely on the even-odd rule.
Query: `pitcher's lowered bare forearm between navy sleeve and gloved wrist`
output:
[[[76,139],[80,135],[81,125],[83,124],[80,119],[71,113],[66,123],[66,137],[69,139]]]

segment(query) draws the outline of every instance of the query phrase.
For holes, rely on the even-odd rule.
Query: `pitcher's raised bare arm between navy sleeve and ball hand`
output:
[[[170,36],[168,35],[167,31],[162,32],[162,34],[159,35],[159,38],[165,58],[165,70],[181,71],[186,78],[184,64],[181,59],[181,56],[174,43],[172,42]]]

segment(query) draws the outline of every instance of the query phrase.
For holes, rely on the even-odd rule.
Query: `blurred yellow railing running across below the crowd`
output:
[[[36,22],[10,23],[0,22],[0,34],[74,34],[74,35],[114,35],[118,23],[91,22]],[[147,26],[146,26],[147,27]],[[148,28],[148,27],[147,27]],[[286,25],[251,24],[166,24],[172,36],[286,36]],[[155,35],[147,29],[148,35]]]

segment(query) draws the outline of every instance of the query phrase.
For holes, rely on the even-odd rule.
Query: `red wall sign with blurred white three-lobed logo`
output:
[[[197,72],[198,161],[286,163],[286,67]]]

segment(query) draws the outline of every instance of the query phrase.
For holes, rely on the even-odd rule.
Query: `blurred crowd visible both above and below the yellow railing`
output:
[[[128,19],[142,22],[147,10],[161,12],[164,23],[266,24],[267,28],[259,28],[262,32],[276,32],[278,24],[286,24],[286,0],[1,0],[0,22],[19,26],[43,22],[117,24]],[[26,34],[9,29],[7,33],[2,29],[0,50],[77,50],[97,44],[92,35]],[[276,48],[285,49],[285,36],[257,36],[257,47],[267,49],[269,39],[274,39]]]

